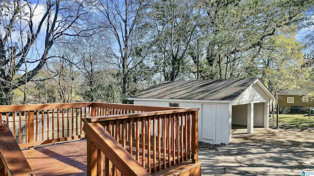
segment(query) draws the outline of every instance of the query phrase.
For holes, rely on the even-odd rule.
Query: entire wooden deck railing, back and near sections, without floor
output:
[[[0,124],[20,148],[86,133],[89,176],[150,175],[184,161],[197,163],[197,117],[198,109],[95,102],[0,106]]]

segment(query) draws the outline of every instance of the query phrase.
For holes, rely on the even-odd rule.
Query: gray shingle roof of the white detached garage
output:
[[[169,81],[143,90],[134,95],[133,98],[234,100],[256,80],[257,78]]]

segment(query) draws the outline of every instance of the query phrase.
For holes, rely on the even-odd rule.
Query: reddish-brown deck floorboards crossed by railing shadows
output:
[[[86,176],[86,139],[24,150],[36,176]]]

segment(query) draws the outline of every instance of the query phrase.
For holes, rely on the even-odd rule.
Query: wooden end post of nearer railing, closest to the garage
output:
[[[192,112],[192,163],[198,163],[198,111]]]

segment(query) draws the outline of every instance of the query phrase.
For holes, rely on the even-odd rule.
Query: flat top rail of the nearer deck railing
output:
[[[98,117],[86,117],[85,121],[87,122],[102,122],[108,120],[119,120],[119,119],[130,119],[137,117],[147,117],[147,116],[155,116],[155,115],[164,115],[169,113],[181,113],[181,112],[189,112],[199,110],[197,108],[189,109],[176,109],[176,110],[159,110],[159,111],[151,111],[151,112],[139,112],[139,113],[131,113],[131,114],[120,114],[120,115],[105,115]]]

